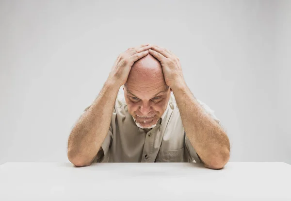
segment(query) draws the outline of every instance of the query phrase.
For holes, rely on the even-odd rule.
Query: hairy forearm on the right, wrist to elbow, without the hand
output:
[[[222,168],[229,159],[229,140],[223,128],[207,114],[186,84],[172,88],[182,123],[192,146],[208,168]]]

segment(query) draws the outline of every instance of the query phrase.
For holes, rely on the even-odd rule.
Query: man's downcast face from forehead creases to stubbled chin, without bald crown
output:
[[[170,88],[163,83],[151,86],[127,83],[124,86],[129,114],[140,128],[153,128],[157,124],[167,108],[170,94]]]

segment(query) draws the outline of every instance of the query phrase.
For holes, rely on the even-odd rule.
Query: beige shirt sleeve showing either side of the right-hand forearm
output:
[[[218,119],[215,114],[214,114],[214,110],[212,110],[207,104],[205,104],[204,102],[197,100],[199,102],[199,104],[204,108],[205,112],[207,114],[210,115],[210,117],[212,117],[217,123],[220,124],[220,119]],[[194,150],[194,147],[192,146],[189,138],[187,137],[186,133],[185,133],[185,147],[186,150],[188,151],[188,161],[189,162],[196,162],[196,163],[202,163],[202,161],[200,160],[199,155],[196,153],[196,151]],[[186,154],[187,155],[187,154]]]

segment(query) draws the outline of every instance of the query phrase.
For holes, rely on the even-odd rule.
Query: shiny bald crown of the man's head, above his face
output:
[[[166,85],[162,73],[162,66],[151,54],[136,61],[129,72],[126,85],[141,87],[142,89],[152,88],[157,85]]]

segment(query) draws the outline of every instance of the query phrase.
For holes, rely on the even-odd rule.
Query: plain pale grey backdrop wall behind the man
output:
[[[68,162],[118,54],[173,51],[232,162],[291,164],[291,1],[0,0],[0,164]]]

